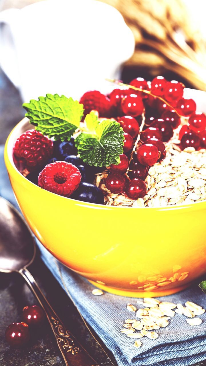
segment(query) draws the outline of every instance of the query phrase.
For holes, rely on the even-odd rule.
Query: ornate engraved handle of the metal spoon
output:
[[[74,338],[74,336],[66,330],[51,305],[48,303],[43,292],[41,292],[33,276],[27,268],[23,268],[19,273],[26,280],[30,290],[32,290],[34,296],[37,298],[40,305],[43,307],[52,331],[55,335],[56,342],[59,350],[63,356],[66,366],[99,366],[96,365],[94,359],[89,356],[87,351],[81,346],[80,343]]]

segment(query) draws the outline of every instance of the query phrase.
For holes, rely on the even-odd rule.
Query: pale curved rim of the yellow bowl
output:
[[[14,141],[12,143],[12,140],[14,139],[14,135],[16,134],[16,131],[18,131],[19,129],[23,129],[26,124],[29,123],[29,119],[27,117],[24,117],[19,123],[16,124],[16,126],[11,130],[10,134],[7,137],[7,140],[5,142],[5,147],[4,147],[4,161],[5,161],[5,165],[7,168],[7,172],[9,172],[9,175],[15,175],[15,177],[18,177],[18,180],[27,183],[28,186],[33,187],[35,190],[37,190],[37,192],[39,192],[39,190],[44,190],[43,188],[37,186],[36,184],[34,184],[33,182],[30,182],[30,180],[26,179],[25,176],[23,176],[19,170],[16,168],[15,164],[14,164],[14,160],[12,158],[12,149],[14,146]],[[31,127],[34,127],[31,124]],[[32,129],[32,128],[31,128]],[[20,135],[20,134],[18,134]],[[172,211],[172,210],[197,210],[197,209],[203,209],[206,208],[206,200],[205,201],[199,201],[199,202],[194,202],[191,204],[187,204],[187,205],[176,205],[176,206],[159,206],[159,207],[129,207],[129,206],[107,206],[107,205],[101,205],[99,203],[91,203],[91,202],[84,202],[84,201],[78,201],[77,199],[73,199],[73,198],[69,198],[69,197],[63,197],[61,195],[58,195],[56,193],[44,190],[45,194],[47,195],[55,195],[57,197],[59,197],[59,199],[69,199],[70,201],[73,201],[76,205],[79,206],[85,206],[88,208],[93,208],[93,209],[104,209],[104,210],[117,210],[117,209],[133,209],[133,210],[142,210],[142,209],[147,209],[147,210],[153,210],[153,211]]]

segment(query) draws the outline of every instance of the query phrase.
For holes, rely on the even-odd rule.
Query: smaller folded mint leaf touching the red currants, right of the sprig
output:
[[[123,134],[120,124],[113,120],[97,124],[95,134],[82,132],[76,141],[81,159],[95,167],[119,164],[119,154],[123,153]]]

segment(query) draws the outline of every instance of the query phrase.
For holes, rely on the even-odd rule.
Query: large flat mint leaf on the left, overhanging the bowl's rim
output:
[[[26,117],[43,135],[54,137],[55,140],[70,140],[71,135],[80,126],[83,115],[83,104],[64,95],[47,94],[30,103],[23,103]]]

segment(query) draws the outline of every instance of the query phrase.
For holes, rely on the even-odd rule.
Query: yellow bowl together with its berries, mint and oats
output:
[[[30,101],[29,119],[5,146],[12,188],[37,238],[117,294],[172,294],[205,272],[205,115],[193,101],[189,120],[181,116],[184,87],[172,83],[164,95],[162,80],[153,89],[132,81],[111,98],[90,91],[80,102],[57,94]]]

